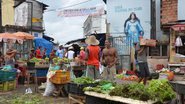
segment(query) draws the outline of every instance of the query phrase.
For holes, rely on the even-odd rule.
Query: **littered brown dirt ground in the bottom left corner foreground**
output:
[[[15,90],[9,91],[9,92],[0,92],[0,104],[8,104],[7,102],[9,100],[12,100],[15,98],[15,96],[22,96],[25,94],[26,86],[19,85]],[[44,90],[39,90],[39,93],[35,93],[33,90],[33,86],[31,87],[33,93],[29,96],[38,97],[42,100],[42,104],[68,104],[68,97],[43,97],[42,94],[44,93]],[[26,100],[26,99],[25,99]],[[33,99],[34,100],[34,99]],[[17,103],[16,103],[17,104]]]

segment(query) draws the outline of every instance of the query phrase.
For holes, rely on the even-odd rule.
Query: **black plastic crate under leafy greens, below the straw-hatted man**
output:
[[[71,94],[76,94],[76,95],[85,95],[83,89],[85,87],[95,87],[97,86],[97,83],[90,83],[90,84],[76,84],[73,82],[70,82],[68,84],[68,92]]]

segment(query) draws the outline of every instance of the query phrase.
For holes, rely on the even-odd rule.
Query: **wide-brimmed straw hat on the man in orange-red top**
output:
[[[99,45],[100,42],[96,39],[94,35],[92,35],[85,40],[85,43],[88,45]]]

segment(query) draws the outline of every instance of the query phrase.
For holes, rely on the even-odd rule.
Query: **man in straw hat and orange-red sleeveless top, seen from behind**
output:
[[[87,71],[86,76],[98,79],[100,78],[99,73],[99,60],[100,60],[100,47],[99,41],[96,39],[94,35],[89,36],[85,40],[86,44],[88,44],[86,49],[86,60],[87,60]]]

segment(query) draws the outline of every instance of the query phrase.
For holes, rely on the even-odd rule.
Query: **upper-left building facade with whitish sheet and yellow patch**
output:
[[[15,25],[25,26],[35,37],[43,37],[43,13],[47,5],[36,0],[26,0],[15,6]]]

